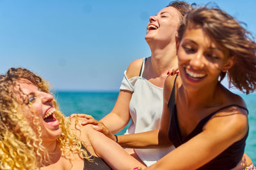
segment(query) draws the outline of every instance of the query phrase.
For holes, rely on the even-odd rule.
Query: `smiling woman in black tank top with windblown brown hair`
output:
[[[118,143],[132,148],[175,146],[147,169],[239,166],[248,136],[248,110],[221,80],[227,74],[230,85],[253,92],[255,52],[250,32],[233,17],[218,8],[193,8],[179,27],[180,76],[168,76],[164,83],[160,129],[118,136]]]

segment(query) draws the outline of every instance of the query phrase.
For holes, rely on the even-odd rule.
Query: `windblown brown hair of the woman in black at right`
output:
[[[228,50],[229,57],[234,57],[234,65],[227,71],[229,87],[234,85],[246,94],[253,92],[256,88],[256,44],[252,34],[242,26],[243,23],[218,7],[198,8],[193,5],[179,27],[178,41],[193,25],[201,27],[209,38]],[[220,74],[220,81],[225,75],[225,72]]]

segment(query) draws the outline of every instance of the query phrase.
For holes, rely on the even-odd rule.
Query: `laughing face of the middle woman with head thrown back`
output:
[[[172,6],[163,8],[157,15],[150,17],[147,25],[147,35],[145,36],[150,48],[152,47],[151,43],[155,43],[156,46],[156,40],[164,41],[164,45],[172,41],[175,42],[179,19],[179,11]]]

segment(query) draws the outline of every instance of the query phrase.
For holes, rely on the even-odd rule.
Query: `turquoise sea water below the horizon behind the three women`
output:
[[[113,108],[118,92],[56,92],[55,97],[65,115],[86,113],[95,119],[107,115]],[[256,163],[256,94],[240,94],[249,110],[249,136],[246,140],[245,153]],[[122,134],[123,131],[118,132]]]

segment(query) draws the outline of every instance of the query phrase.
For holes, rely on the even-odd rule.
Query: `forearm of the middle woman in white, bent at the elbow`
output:
[[[106,125],[111,133],[116,134],[124,129],[125,125],[129,123],[129,120],[129,115],[126,118],[122,118],[116,113],[111,112],[106,115],[106,117],[102,118],[100,122]]]

